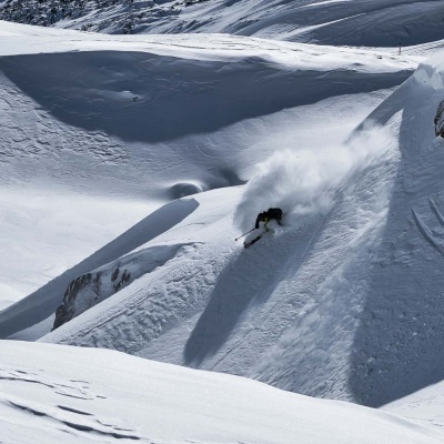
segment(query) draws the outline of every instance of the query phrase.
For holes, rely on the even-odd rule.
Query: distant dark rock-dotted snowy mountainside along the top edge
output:
[[[438,1],[3,1],[0,19],[105,33],[222,32],[322,44],[397,47],[443,38]]]

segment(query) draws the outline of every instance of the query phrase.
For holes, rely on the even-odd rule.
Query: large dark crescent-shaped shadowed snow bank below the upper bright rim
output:
[[[269,60],[248,52],[242,60],[211,63],[144,52],[17,56],[0,59],[0,70],[70,127],[151,144],[214,132],[333,95],[392,88],[408,77],[405,70],[393,71],[390,60],[383,60],[379,74],[370,74],[353,65],[352,53],[337,54],[345,58],[345,69],[325,70],[319,59],[330,60],[325,52],[312,56],[313,68],[300,70],[294,49],[282,62],[282,56]],[[374,54],[366,57],[370,63]]]

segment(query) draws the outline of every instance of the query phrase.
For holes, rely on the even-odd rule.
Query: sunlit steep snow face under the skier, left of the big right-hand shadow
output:
[[[350,352],[398,163],[395,139],[365,134],[381,144],[379,155],[343,176],[333,205],[311,214],[310,224],[284,218],[286,226],[245,251],[232,241],[239,235],[231,228],[232,202],[239,198],[229,190],[200,194],[193,214],[151,241],[199,240],[182,259],[41,341],[119,349],[353,398]],[[224,205],[214,206],[222,199]],[[253,223],[255,214],[250,216]]]

